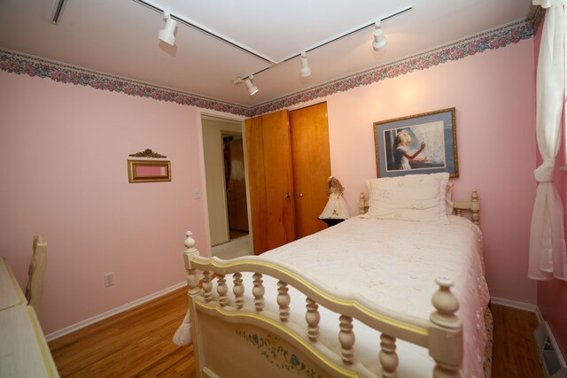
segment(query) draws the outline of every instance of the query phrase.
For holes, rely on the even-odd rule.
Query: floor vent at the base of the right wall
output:
[[[555,343],[555,338],[551,334],[548,322],[544,321],[540,327],[533,331],[535,343],[540,354],[540,362],[547,378],[567,378],[567,366],[561,355],[561,351]]]

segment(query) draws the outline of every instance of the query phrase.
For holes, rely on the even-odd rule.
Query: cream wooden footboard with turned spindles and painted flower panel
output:
[[[439,290],[431,298],[436,311],[422,320],[366,303],[359,296],[328,292],[293,267],[267,258],[202,258],[192,233],[186,235],[190,310],[184,327],[190,320],[198,376],[272,377],[294,372],[314,377],[394,377],[399,365],[397,339],[429,350],[435,361],[434,377],[461,376],[462,321],[455,315],[459,304],[448,278],[437,279]],[[243,274],[252,274],[252,287],[245,287]],[[277,280],[277,288],[266,295],[268,277]],[[306,297],[303,321],[291,318],[291,288]],[[245,292],[253,298],[245,297]],[[270,307],[271,297],[276,297],[277,305]],[[334,336],[321,333],[320,306],[337,314]],[[381,372],[371,371],[357,358],[353,321],[381,333],[376,354]],[[338,350],[323,340],[338,340]]]

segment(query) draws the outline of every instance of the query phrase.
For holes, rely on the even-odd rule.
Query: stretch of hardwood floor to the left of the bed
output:
[[[62,377],[195,377],[193,347],[172,342],[187,312],[187,289],[49,343]]]

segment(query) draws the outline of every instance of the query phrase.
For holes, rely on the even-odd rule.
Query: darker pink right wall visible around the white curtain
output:
[[[535,64],[537,67],[537,57],[540,51],[541,27],[533,38],[533,50]],[[535,77],[535,74],[534,74]],[[563,120],[564,123],[564,120]],[[563,128],[564,130],[564,128]],[[563,135],[564,136],[564,135]],[[567,164],[565,161],[565,139],[557,155],[555,174],[553,181],[563,201],[563,206],[567,205],[567,173],[560,171],[559,166]],[[536,160],[541,163],[540,152],[537,151]],[[565,235],[567,235],[567,222],[565,222]],[[554,280],[552,282],[538,282],[538,307],[540,308],[543,319],[548,321],[549,328],[553,332],[563,356],[567,356],[567,282]]]

